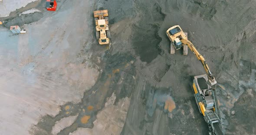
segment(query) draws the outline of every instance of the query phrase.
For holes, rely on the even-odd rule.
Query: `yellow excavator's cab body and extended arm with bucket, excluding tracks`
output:
[[[213,74],[211,73],[205,59],[203,58],[202,55],[200,55],[200,53],[197,51],[195,46],[189,40],[187,40],[187,36],[182,31],[180,26],[177,25],[177,26],[171,27],[170,29],[167,30],[166,34],[168,38],[171,40],[172,45],[176,50],[180,49],[184,45],[187,45],[188,48],[190,48],[190,50],[196,55],[197,59],[203,64],[203,68],[208,75],[207,83],[210,84],[210,86],[217,84],[217,81],[213,77]]]

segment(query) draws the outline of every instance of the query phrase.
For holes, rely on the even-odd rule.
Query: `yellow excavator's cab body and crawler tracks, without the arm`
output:
[[[187,32],[183,32],[180,26],[173,26],[166,31],[166,35],[171,40],[171,55],[175,54],[175,49],[183,48],[183,55],[187,55],[187,45],[182,45],[179,39],[187,39]]]

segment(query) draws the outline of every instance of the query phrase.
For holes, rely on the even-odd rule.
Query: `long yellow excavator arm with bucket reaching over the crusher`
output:
[[[210,86],[213,86],[213,85],[217,84],[217,81],[213,77],[213,74],[211,73],[211,71],[208,67],[208,64],[206,63],[203,56],[200,55],[200,53],[197,51],[195,46],[187,39],[181,39],[181,43],[182,43],[182,45],[187,45],[190,48],[190,50],[196,55],[197,59],[199,61],[201,61],[201,63],[203,64],[203,68],[204,68],[204,70],[206,71],[206,73],[208,75]]]

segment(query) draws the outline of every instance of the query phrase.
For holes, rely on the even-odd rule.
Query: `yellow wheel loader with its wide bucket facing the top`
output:
[[[96,25],[96,39],[100,45],[109,44],[111,39],[108,27],[108,10],[93,11],[95,25]]]

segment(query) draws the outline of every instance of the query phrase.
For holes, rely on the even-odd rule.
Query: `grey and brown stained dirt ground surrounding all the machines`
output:
[[[0,134],[207,135],[192,92],[203,66],[191,51],[169,54],[165,32],[180,25],[218,82],[225,135],[256,135],[256,1],[57,2],[0,18]],[[32,8],[42,12],[18,15]],[[102,9],[109,46],[95,39]]]

